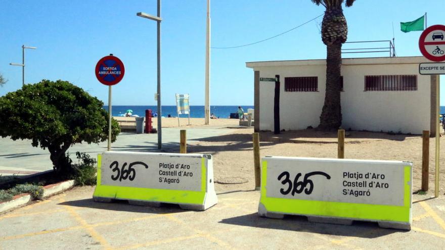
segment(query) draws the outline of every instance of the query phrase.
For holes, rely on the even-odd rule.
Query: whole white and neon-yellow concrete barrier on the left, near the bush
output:
[[[98,202],[128,200],[206,210],[217,203],[211,155],[105,152],[98,155]]]

